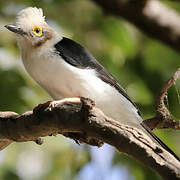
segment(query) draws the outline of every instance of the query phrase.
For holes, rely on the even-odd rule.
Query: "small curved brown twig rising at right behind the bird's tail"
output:
[[[147,126],[151,129],[167,129],[172,128],[180,130],[180,121],[176,121],[166,105],[164,99],[167,95],[168,89],[173,86],[176,81],[180,78],[180,68],[174,73],[174,75],[164,84],[160,94],[156,100],[156,116],[151,119],[144,120]]]

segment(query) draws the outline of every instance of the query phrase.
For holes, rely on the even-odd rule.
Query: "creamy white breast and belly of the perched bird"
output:
[[[31,57],[23,62],[33,79],[55,100],[88,97],[107,116],[127,125],[139,126],[141,118],[137,109],[115,88],[97,78],[94,70],[73,67],[60,59],[60,56]]]

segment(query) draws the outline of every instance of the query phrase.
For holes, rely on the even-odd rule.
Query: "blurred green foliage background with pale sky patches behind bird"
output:
[[[96,57],[127,90],[143,118],[155,115],[163,83],[180,65],[180,54],[143,35],[127,21],[104,15],[90,0],[0,1],[0,111],[23,113],[51,100],[25,72],[13,33],[4,28],[28,6],[41,7],[48,23]],[[168,3],[180,11],[180,3]],[[180,119],[180,81],[168,91],[166,104]],[[180,132],[155,133],[180,156]],[[109,145],[77,145],[61,135],[44,144],[13,143],[0,152],[0,180],[158,180],[153,171]],[[128,147],[127,147],[128,148]]]

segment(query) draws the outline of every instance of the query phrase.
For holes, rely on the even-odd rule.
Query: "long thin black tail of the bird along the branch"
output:
[[[141,126],[150,134],[157,142],[160,144],[166,151],[168,151],[170,154],[172,154],[178,161],[180,161],[179,157],[166,145],[164,144],[152,131],[149,127],[146,126],[143,122],[141,123]]]

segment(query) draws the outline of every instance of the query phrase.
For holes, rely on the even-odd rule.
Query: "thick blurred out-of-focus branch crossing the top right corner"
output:
[[[122,17],[148,36],[180,50],[180,15],[158,0],[93,0],[110,15]]]

